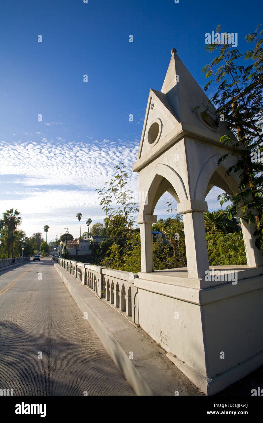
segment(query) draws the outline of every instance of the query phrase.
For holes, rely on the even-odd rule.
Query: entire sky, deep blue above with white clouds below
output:
[[[48,241],[65,227],[77,236],[77,212],[83,214],[83,232],[87,218],[102,221],[95,188],[120,161],[131,173],[149,89],[161,89],[171,48],[203,88],[201,69],[211,61],[205,33],[220,24],[223,32],[238,33],[243,52],[244,36],[260,23],[260,7],[262,12],[255,0],[5,2],[0,213],[18,209],[27,236],[49,225]],[[136,173],[131,184],[138,184]],[[219,207],[217,192],[207,198],[209,209]],[[166,214],[169,198],[165,194],[157,204],[158,217]]]

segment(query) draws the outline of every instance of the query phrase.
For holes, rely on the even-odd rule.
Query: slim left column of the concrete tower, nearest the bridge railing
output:
[[[157,216],[139,215],[137,222],[141,225],[141,271],[153,272],[152,223],[157,222]]]

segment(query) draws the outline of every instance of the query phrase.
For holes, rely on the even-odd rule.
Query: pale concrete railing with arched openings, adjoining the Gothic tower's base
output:
[[[138,324],[138,288],[134,286],[134,279],[138,277],[136,273],[65,258],[56,257],[55,261],[98,297]]]

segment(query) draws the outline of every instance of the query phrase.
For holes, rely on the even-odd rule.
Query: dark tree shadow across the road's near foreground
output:
[[[0,389],[15,396],[135,395],[106,352],[88,348],[83,335],[76,343],[66,335],[47,337],[0,322]]]

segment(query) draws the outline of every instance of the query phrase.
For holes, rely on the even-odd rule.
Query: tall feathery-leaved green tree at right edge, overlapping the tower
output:
[[[263,247],[263,161],[255,159],[258,151],[263,151],[263,31],[259,32],[259,27],[245,37],[247,43],[253,43],[247,52],[241,53],[231,44],[208,44],[206,50],[210,53],[219,50],[219,55],[203,68],[203,73],[206,78],[214,78],[207,82],[205,91],[213,87],[212,83],[217,85],[205,112],[211,115],[210,105],[214,104],[217,107],[216,113],[212,112],[214,121],[223,116],[235,136],[225,134],[220,139],[233,151],[222,156],[218,165],[227,157],[236,157],[236,164],[228,168],[226,175],[239,174],[240,192],[233,197],[225,192],[218,198],[221,205],[231,202],[226,208],[230,220],[240,210],[241,219],[255,225],[256,245],[260,249]],[[217,32],[220,31],[219,25]],[[242,66],[240,59],[247,60],[248,66]]]

